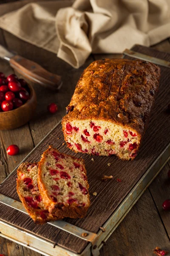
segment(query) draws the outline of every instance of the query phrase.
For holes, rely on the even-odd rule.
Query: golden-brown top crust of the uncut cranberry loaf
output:
[[[103,119],[143,134],[159,85],[160,68],[140,60],[105,59],[82,73],[63,122]]]

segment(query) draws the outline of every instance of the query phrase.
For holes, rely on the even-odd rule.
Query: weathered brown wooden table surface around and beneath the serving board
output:
[[[18,52],[23,57],[36,61],[45,69],[61,75],[63,80],[59,93],[31,83],[36,90],[38,100],[34,118],[23,127],[12,131],[0,131],[1,183],[65,115],[65,107],[71,99],[84,68],[94,59],[119,58],[121,55],[91,55],[83,67],[76,70],[57,58],[54,53],[28,44],[2,29],[0,29],[0,44]],[[170,39],[154,45],[153,48],[170,53]],[[6,75],[14,73],[9,64],[3,60],[0,60],[0,71]],[[51,102],[56,102],[58,105],[59,110],[55,114],[47,112],[47,105]],[[11,144],[17,144],[20,147],[19,155],[10,157],[6,154],[6,148]],[[164,169],[110,236],[100,251],[101,256],[152,256],[156,246],[170,251],[170,212],[164,212],[161,207],[163,201],[170,198],[170,183],[167,183],[169,169],[170,162],[164,166]],[[40,256],[39,253],[1,237],[0,253],[6,256]]]

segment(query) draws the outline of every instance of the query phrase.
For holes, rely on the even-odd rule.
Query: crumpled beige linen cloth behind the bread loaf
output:
[[[91,52],[170,37],[170,0],[25,0],[0,5],[0,27],[79,68]]]

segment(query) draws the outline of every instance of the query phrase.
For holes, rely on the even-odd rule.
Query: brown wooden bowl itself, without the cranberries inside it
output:
[[[0,112],[0,130],[11,130],[25,125],[33,116],[37,97],[33,87],[28,84],[30,90],[30,99],[21,107],[11,111]]]

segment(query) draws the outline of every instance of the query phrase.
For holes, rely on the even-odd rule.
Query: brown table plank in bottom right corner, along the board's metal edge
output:
[[[156,246],[170,251],[170,241],[148,189],[106,244],[101,256],[149,256]]]

